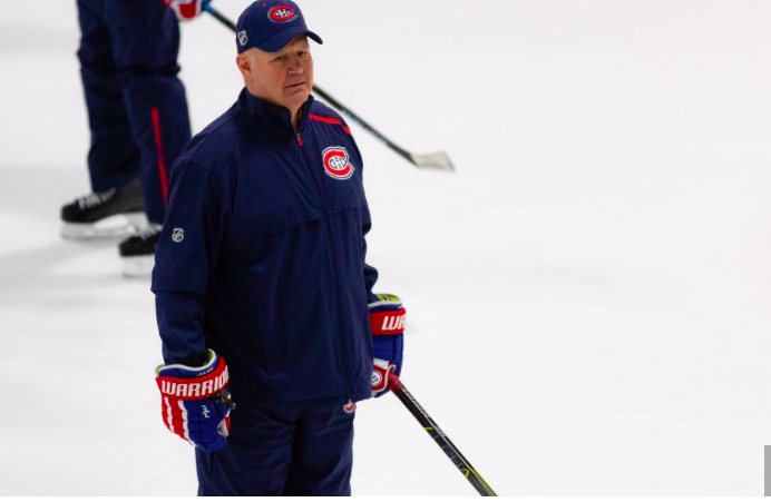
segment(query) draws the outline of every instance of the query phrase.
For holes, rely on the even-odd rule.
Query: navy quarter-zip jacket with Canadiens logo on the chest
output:
[[[244,89],[172,168],[153,272],[167,364],[228,363],[234,400],[265,406],[370,396],[361,154],[329,107],[290,112]]]

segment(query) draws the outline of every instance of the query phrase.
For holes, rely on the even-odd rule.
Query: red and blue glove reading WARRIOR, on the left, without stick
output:
[[[225,447],[235,403],[227,392],[227,364],[214,351],[201,367],[159,366],[155,378],[166,427],[192,445],[217,452]]]

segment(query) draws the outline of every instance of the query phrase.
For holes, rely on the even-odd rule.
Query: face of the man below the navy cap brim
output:
[[[238,57],[238,67],[250,92],[292,114],[308,100],[313,89],[313,58],[304,35],[292,39],[277,52],[250,49]]]

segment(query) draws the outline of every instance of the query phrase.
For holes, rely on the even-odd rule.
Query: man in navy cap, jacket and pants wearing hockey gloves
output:
[[[295,3],[252,3],[245,88],[172,168],[156,380],[199,495],[349,495],[355,403],[401,371],[404,309],[372,293],[363,163],[311,96],[311,40]]]

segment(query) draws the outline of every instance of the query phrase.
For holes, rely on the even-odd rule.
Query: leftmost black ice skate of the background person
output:
[[[97,191],[61,208],[61,236],[89,240],[126,237],[147,225],[141,186],[136,179],[125,187]]]

